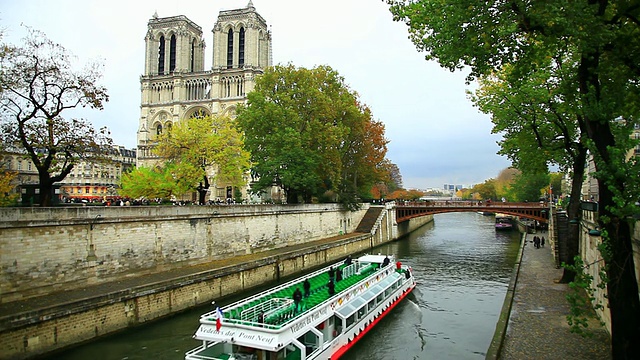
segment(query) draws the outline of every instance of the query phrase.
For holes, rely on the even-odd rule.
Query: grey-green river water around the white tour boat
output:
[[[519,240],[517,231],[496,232],[493,216],[449,213],[377,248],[411,265],[418,286],[342,359],[484,359]],[[198,346],[191,336],[199,315],[209,310],[193,309],[49,358],[183,359]]]

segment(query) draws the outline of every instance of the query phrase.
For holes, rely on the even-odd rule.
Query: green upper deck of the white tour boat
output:
[[[364,280],[374,273],[379,266],[380,264],[376,263],[363,265],[357,262],[348,266],[344,264],[335,266],[334,269],[339,268],[343,275],[340,281],[335,282],[335,294],[333,296],[337,296],[343,290]],[[404,270],[396,270],[395,267],[390,266],[389,268],[401,273],[404,272]],[[303,292],[302,284],[304,279],[308,279],[311,284],[309,297],[302,298],[300,309],[296,312],[293,292],[296,288]],[[223,322],[279,329],[307,310],[313,309],[315,306],[332,298],[333,296],[329,295],[328,283],[328,268],[324,268],[284,285],[277,286],[271,291],[260,293],[255,297],[246,299],[246,301],[225,307],[223,309]],[[215,312],[205,314],[203,317],[209,321],[216,320]]]

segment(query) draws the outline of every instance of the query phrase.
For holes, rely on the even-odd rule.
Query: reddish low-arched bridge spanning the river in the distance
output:
[[[396,222],[398,223],[418,216],[447,212],[491,212],[519,216],[545,223],[549,220],[549,207],[544,202],[516,203],[477,200],[396,202]]]

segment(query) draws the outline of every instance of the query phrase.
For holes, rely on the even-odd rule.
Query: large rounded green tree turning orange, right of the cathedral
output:
[[[335,193],[350,207],[380,176],[384,127],[330,67],[269,68],[247,97],[236,120],[254,191],[279,186],[288,203]]]

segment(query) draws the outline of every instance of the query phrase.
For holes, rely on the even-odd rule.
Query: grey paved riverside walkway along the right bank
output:
[[[556,269],[548,244],[539,249],[534,247],[535,235],[547,234],[526,235],[511,314],[498,358],[611,359],[609,333],[597,321],[589,324],[592,337],[569,331],[566,316],[570,307],[566,295],[573,290],[568,284],[558,283],[563,270]]]

